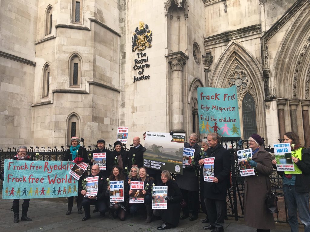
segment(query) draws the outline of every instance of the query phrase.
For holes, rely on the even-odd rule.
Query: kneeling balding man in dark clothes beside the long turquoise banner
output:
[[[84,198],[82,200],[82,205],[85,211],[85,217],[83,217],[82,221],[86,221],[89,218],[91,218],[90,213],[90,205],[95,205],[98,210],[100,211],[100,216],[104,216],[105,212],[107,211],[107,203],[106,200],[109,197],[107,193],[107,187],[108,183],[105,176],[102,176],[99,174],[99,166],[93,165],[91,167],[91,174],[86,177],[93,177],[93,176],[99,176],[98,181],[98,193],[96,196],[88,196],[86,197],[86,190],[83,189],[83,186],[79,186],[79,192],[84,195]]]

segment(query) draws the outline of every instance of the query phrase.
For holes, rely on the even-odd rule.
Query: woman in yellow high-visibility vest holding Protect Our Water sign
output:
[[[287,132],[283,136],[290,143],[295,171],[278,171],[283,179],[284,200],[287,206],[288,222],[291,232],[298,232],[298,217],[304,225],[304,231],[310,231],[309,191],[310,191],[310,154],[300,146],[299,136]],[[277,164],[272,160],[272,164]]]

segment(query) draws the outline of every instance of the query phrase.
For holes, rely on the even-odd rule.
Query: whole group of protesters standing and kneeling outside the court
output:
[[[144,133],[144,139],[145,139]],[[189,218],[190,221],[198,219],[198,211],[201,204],[202,211],[206,218],[202,223],[208,223],[203,228],[211,232],[224,231],[224,219],[226,217],[227,188],[230,187],[231,162],[230,152],[220,143],[220,136],[217,133],[210,133],[201,140],[201,147],[197,144],[198,135],[189,135],[188,143],[184,143],[184,148],[195,149],[192,163],[185,165],[183,175],[176,174],[175,180],[169,171],[159,171],[143,166],[144,151],[140,144],[140,138],[133,138],[133,146],[129,151],[125,151],[123,144],[119,141],[114,143],[114,150],[105,148],[105,141],[97,141],[97,148],[90,154],[80,145],[78,137],[71,138],[71,146],[66,151],[63,161],[73,161],[75,163],[85,162],[90,165],[91,173],[87,172],[79,179],[79,189],[77,197],[78,213],[85,216],[82,221],[91,218],[90,205],[94,205],[93,213],[100,212],[100,216],[105,216],[109,211],[109,218],[120,220],[126,219],[126,214],[146,215],[145,223],[151,222],[152,218],[161,218],[162,225],[158,230],[165,230],[176,227],[179,220]],[[235,151],[243,148],[244,140],[238,141]],[[292,161],[295,171],[278,172],[283,178],[284,198],[288,208],[288,222],[291,231],[298,231],[298,217],[303,223],[305,231],[310,231],[309,212],[309,191],[310,191],[310,154],[307,149],[302,148],[299,137],[294,132],[287,132],[284,135],[284,142],[290,143]],[[269,175],[272,174],[276,161],[264,149],[264,141],[258,134],[253,134],[248,139],[249,148],[252,150],[252,159],[249,161],[251,168],[254,168],[255,175],[245,177],[244,196],[244,219],[247,226],[260,231],[270,231],[275,228],[273,214],[268,211],[266,205],[266,193],[271,191]],[[93,153],[106,153],[106,170],[100,170],[98,165],[94,165]],[[79,154],[79,155],[78,155]],[[212,182],[204,181],[204,159],[214,157],[214,179]],[[15,160],[31,160],[27,155],[27,147],[20,146],[17,150]],[[98,193],[96,196],[87,196],[86,190],[82,186],[82,180],[86,177],[99,176]],[[124,201],[109,202],[109,181],[124,181]],[[131,181],[144,182],[144,204],[129,203]],[[167,186],[168,194],[167,209],[152,210],[151,188],[148,186]],[[199,195],[200,191],[200,195]],[[158,199],[155,199],[155,201]],[[22,205],[21,220],[31,221],[27,216],[29,199],[24,199]],[[68,197],[67,215],[71,214],[73,208],[73,197]],[[181,208],[183,213],[181,215]],[[13,200],[14,222],[19,221],[19,199]],[[191,211],[191,215],[190,215]]]

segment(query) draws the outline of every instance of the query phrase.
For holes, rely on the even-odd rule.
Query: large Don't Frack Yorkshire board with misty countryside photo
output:
[[[144,166],[182,174],[184,140],[184,133],[146,132]]]

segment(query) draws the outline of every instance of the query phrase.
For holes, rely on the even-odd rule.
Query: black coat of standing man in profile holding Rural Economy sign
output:
[[[215,200],[226,200],[226,191],[230,180],[230,153],[221,144],[218,144],[215,148],[210,147],[207,150],[207,156],[215,157],[214,176],[218,178],[219,182],[205,181],[204,196]]]

